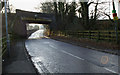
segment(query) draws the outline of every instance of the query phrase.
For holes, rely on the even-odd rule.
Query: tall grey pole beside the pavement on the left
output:
[[[9,40],[9,34],[8,34],[8,23],[7,23],[7,1],[5,1],[5,24],[6,24],[6,38],[7,38],[7,50],[8,50],[8,56],[10,53],[10,40]]]

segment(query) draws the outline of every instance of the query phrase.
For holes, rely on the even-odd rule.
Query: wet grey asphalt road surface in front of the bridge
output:
[[[39,73],[118,73],[118,56],[53,39],[29,39],[26,48]]]

